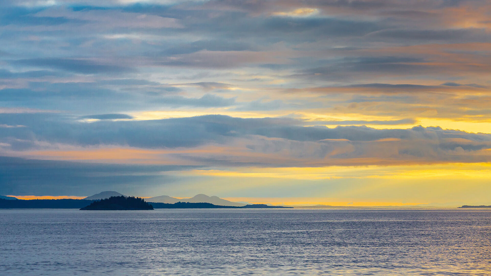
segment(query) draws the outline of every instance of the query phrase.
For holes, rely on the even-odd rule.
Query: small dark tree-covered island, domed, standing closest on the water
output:
[[[94,201],[80,210],[153,210],[153,206],[141,197],[120,195]]]

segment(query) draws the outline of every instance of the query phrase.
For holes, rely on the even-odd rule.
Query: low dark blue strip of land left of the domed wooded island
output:
[[[51,209],[72,209],[82,208],[94,202],[94,200],[85,199],[0,199],[0,208],[51,208]]]

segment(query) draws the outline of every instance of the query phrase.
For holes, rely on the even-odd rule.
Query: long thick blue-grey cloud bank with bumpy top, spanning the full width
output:
[[[92,123],[55,122],[48,118],[4,115],[3,122],[26,127],[5,129],[0,133],[0,142],[9,145],[6,149],[11,154],[21,155],[22,152],[34,154],[41,149],[55,150],[60,146],[163,149],[159,154],[175,160],[175,164],[186,164],[183,160],[189,160],[201,166],[222,166],[224,160],[237,166],[244,163],[274,167],[473,163],[491,159],[490,134],[439,127],[328,128],[305,126],[310,122],[288,118],[244,119],[221,115]],[[213,150],[201,150],[212,145]],[[174,150],[166,153],[166,149]]]

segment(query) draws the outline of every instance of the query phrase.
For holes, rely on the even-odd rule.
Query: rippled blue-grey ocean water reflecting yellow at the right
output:
[[[491,275],[491,210],[0,210],[0,275]]]

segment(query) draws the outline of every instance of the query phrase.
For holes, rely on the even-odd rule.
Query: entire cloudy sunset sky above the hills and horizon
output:
[[[488,0],[2,0],[0,194],[491,204],[490,18]]]

